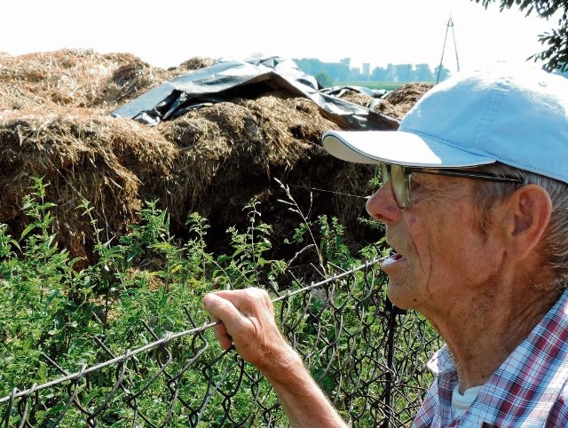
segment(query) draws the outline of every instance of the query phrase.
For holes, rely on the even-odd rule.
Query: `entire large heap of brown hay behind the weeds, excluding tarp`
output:
[[[338,218],[354,249],[375,240],[377,232],[358,221],[367,216],[364,200],[344,195],[370,194],[374,168],[327,155],[321,134],[339,127],[310,99],[285,91],[235,97],[154,127],[110,115],[146,91],[214,63],[193,58],[166,70],[128,53],[0,53],[0,223],[19,236],[30,222],[23,198],[33,178],[43,178],[49,185],[45,201],[55,204],[53,232],[72,257],[88,262],[93,243],[125,234],[146,202],[167,211],[172,234],[182,239],[189,215],[199,212],[211,225],[211,250],[224,251],[227,227],[246,228],[243,209],[255,200],[260,220],[272,226],[273,256],[287,257],[294,250],[283,242],[302,218],[279,201],[289,202],[280,180],[309,219]],[[406,84],[375,111],[401,118],[430,86]],[[356,91],[342,98],[365,107],[373,100]],[[90,215],[80,208],[84,201]]]

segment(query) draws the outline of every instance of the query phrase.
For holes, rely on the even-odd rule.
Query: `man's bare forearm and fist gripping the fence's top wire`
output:
[[[216,291],[203,297],[224,349],[234,345],[274,387],[291,426],[345,428],[341,417],[314,382],[296,350],[282,336],[264,289]]]

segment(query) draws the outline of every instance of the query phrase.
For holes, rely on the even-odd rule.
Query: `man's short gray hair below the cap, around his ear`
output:
[[[525,185],[534,184],[548,192],[552,201],[552,215],[547,231],[539,244],[539,250],[544,256],[546,265],[552,269],[555,287],[565,289],[568,281],[568,184],[503,163],[485,165],[476,170],[502,177],[520,178]],[[492,210],[517,188],[519,185],[516,183],[478,182],[474,202],[478,215],[477,227],[482,235],[487,233]]]

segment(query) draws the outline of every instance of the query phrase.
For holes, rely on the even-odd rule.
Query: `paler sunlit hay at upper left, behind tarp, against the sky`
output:
[[[130,53],[103,55],[91,50],[63,49],[0,56],[0,107],[25,109],[56,104],[102,108],[108,114],[155,86],[210,62],[214,60],[190,59],[183,67],[164,70]],[[8,87],[18,89],[11,94]]]

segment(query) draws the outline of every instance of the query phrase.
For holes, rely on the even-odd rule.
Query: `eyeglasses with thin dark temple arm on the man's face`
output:
[[[468,170],[438,170],[437,168],[414,168],[385,162],[379,163],[379,167],[381,182],[384,184],[390,180],[390,186],[392,186],[392,191],[394,192],[398,208],[400,209],[405,209],[408,205],[410,205],[410,179],[414,172],[523,184],[523,180],[520,178],[495,176],[485,172]]]

